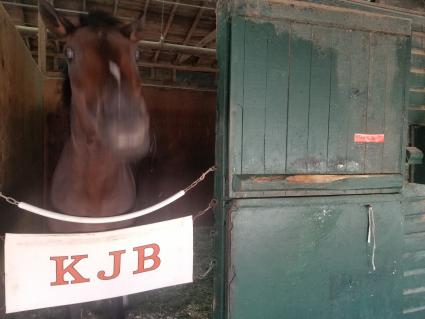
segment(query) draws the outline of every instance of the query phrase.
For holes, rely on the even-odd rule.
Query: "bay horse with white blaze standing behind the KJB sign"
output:
[[[39,10],[47,29],[64,42],[69,74],[65,81],[71,90],[70,138],[53,174],[52,206],[77,216],[125,213],[136,199],[130,163],[142,158],[150,145],[149,116],[136,64],[144,16],[121,25],[107,13],[93,12],[73,23],[46,0],[39,0]],[[128,225],[48,221],[52,232]],[[79,315],[71,311],[71,317]]]

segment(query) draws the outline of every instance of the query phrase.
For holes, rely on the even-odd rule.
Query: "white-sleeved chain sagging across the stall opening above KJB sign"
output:
[[[61,220],[64,222],[70,222],[70,223],[80,223],[80,224],[106,224],[106,223],[117,223],[122,222],[129,219],[134,219],[137,217],[141,217],[144,215],[147,215],[149,213],[152,213],[154,211],[157,211],[167,205],[170,205],[171,203],[175,202],[179,198],[183,197],[188,191],[190,191],[192,188],[194,188],[196,185],[199,184],[202,180],[204,180],[205,176],[209,174],[210,172],[215,171],[215,167],[210,167],[206,172],[204,172],[197,180],[195,180],[190,186],[186,187],[184,190],[181,190],[174,195],[166,198],[162,202],[159,202],[153,206],[144,208],[142,210],[138,210],[132,213],[123,214],[123,215],[116,215],[116,216],[108,216],[108,217],[84,217],[84,216],[75,216],[75,215],[67,215],[67,214],[61,214],[52,212],[47,209],[43,209],[40,207],[33,206],[31,204],[27,204],[24,202],[19,202],[15,200],[12,197],[4,195],[2,192],[0,192],[0,198],[3,198],[6,202],[12,205],[18,206],[20,209],[26,210],[28,212],[44,216],[47,218],[52,218],[56,220]],[[211,208],[212,204],[208,206],[208,209]]]

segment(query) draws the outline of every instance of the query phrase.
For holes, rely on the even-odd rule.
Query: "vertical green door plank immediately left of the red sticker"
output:
[[[350,104],[351,82],[351,32],[333,29],[331,96],[329,107],[329,137],[327,173],[345,173],[347,147],[352,143],[348,135],[347,106]]]

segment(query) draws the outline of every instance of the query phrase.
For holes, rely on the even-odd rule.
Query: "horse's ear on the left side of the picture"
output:
[[[47,29],[57,37],[63,38],[75,29],[69,20],[58,15],[55,8],[47,0],[39,0],[38,8]]]

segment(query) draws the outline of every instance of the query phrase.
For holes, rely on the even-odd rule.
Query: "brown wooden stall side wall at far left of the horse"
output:
[[[42,190],[42,96],[42,74],[0,5],[0,189],[22,200]]]

